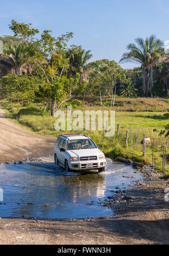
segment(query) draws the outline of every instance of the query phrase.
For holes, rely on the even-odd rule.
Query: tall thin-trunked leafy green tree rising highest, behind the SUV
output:
[[[47,82],[47,88],[53,88],[54,81],[64,74],[64,70],[68,68],[69,58],[68,41],[73,37],[73,33],[66,33],[60,37],[51,36],[51,31],[45,30],[41,34],[40,39],[35,39],[34,36],[39,33],[38,29],[31,28],[31,24],[17,23],[12,20],[10,28],[16,37],[21,38],[30,54],[29,62],[36,68],[42,71]],[[72,46],[72,49],[77,49],[77,46]],[[58,91],[57,91],[58,93]],[[51,95],[51,115],[54,116],[56,108],[56,97]]]

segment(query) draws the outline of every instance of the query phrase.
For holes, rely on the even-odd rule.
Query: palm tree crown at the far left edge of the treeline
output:
[[[15,74],[20,74],[20,68],[28,62],[28,52],[24,44],[6,45],[0,63],[14,68]]]

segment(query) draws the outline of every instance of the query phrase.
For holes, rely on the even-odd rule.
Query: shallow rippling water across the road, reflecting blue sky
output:
[[[43,163],[0,165],[0,217],[41,217],[52,219],[112,215],[97,203],[112,195],[110,190],[127,189],[142,179],[131,165],[110,159],[104,173],[65,173],[50,157]],[[130,177],[130,178],[129,178]],[[92,205],[88,205],[88,204]]]

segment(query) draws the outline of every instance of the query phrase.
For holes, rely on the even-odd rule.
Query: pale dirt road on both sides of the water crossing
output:
[[[0,163],[53,153],[55,139],[30,134],[8,121],[0,109]],[[0,177],[1,181],[1,177]],[[132,202],[115,215],[88,220],[0,219],[0,244],[169,244],[168,181],[154,177],[129,191]]]

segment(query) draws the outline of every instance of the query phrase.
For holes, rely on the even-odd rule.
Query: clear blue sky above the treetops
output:
[[[0,35],[12,35],[12,19],[54,36],[73,32],[71,44],[91,50],[92,61],[119,61],[136,37],[169,40],[168,0],[0,0]],[[136,66],[123,64],[129,69]]]

